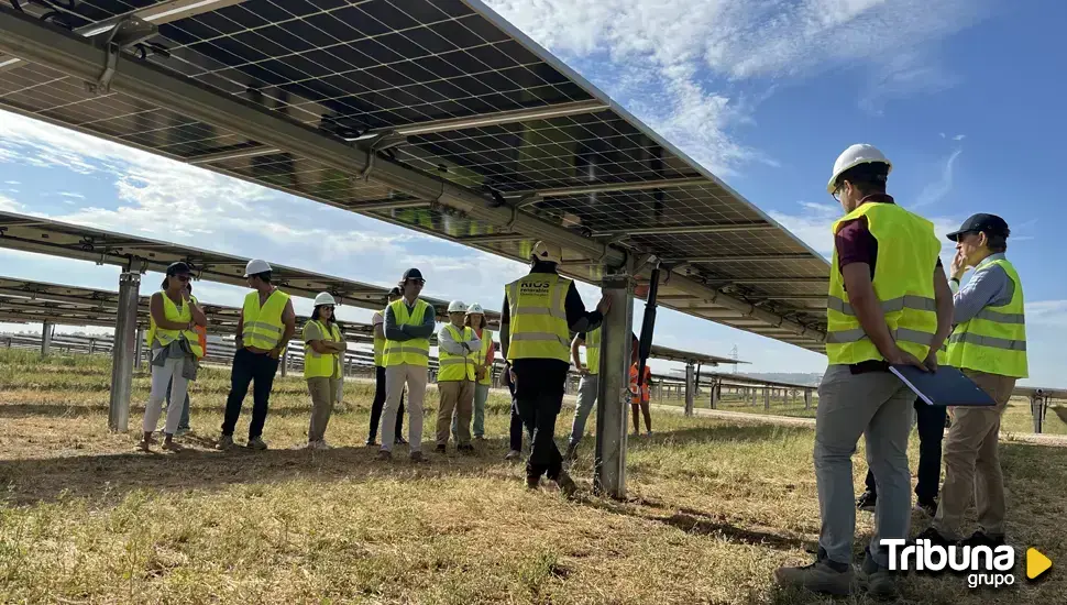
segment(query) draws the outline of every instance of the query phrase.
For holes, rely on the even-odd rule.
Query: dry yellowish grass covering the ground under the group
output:
[[[294,449],[309,402],[300,378],[279,378],[272,449],[223,453],[208,446],[228,373],[207,369],[193,395],[191,449],[141,454],[135,435],[107,431],[109,363],[0,352],[0,602],[831,602],[770,581],[776,566],[807,562],[818,532],[810,429],[656,411],[656,436],[627,451],[629,498],[569,502],[527,492],[521,465],[502,460],[501,394],[487,415],[494,439],[477,457],[433,454],[416,466],[375,462],[361,446],[365,382],[345,384],[345,408],[330,422],[340,448]],[[134,429],[146,387],[138,375]],[[248,420],[249,409],[238,436]],[[569,422],[570,408],[558,432]],[[573,468],[586,493],[591,452],[592,439]],[[1010,539],[1063,560],[1067,449],[1005,442],[1002,453]],[[864,473],[857,463],[857,485]],[[872,519],[857,521],[858,553]],[[903,591],[906,602],[1063,603],[1067,587],[1052,573],[1002,592],[954,578],[908,578]]]

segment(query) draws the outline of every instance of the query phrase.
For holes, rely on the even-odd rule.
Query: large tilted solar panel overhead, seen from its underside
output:
[[[825,260],[475,0],[55,4],[24,4],[22,15],[0,7],[0,107],[517,260],[542,234],[506,223],[537,217],[654,254],[672,270],[666,306],[822,349]],[[110,92],[87,91],[89,72],[57,58],[42,16],[98,46],[129,38]],[[40,26],[30,42],[6,43],[3,30],[29,19]],[[113,26],[121,19],[128,30]],[[146,24],[154,31],[127,35]],[[196,82],[216,111],[179,111],[123,81],[134,62]],[[274,144],[277,129],[229,119],[242,112],[301,124],[308,145]],[[427,177],[513,219],[410,185]],[[565,273],[596,282],[603,258],[588,250],[566,245]]]

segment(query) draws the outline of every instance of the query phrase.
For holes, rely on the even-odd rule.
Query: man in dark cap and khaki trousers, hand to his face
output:
[[[946,546],[963,538],[964,514],[971,503],[978,531],[961,546],[996,548],[1004,543],[1004,475],[997,443],[1000,419],[1015,388],[1027,375],[1023,284],[1008,261],[1004,219],[975,215],[958,231],[953,276],[956,323],[948,339],[947,364],[958,367],[997,402],[993,407],[950,408],[952,427],[945,438],[945,484],[934,522],[921,538]],[[967,284],[964,274],[974,268]]]

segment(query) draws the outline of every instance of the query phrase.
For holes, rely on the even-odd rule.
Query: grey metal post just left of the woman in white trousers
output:
[[[125,432],[130,428],[130,391],[133,386],[140,290],[140,273],[128,271],[119,276],[119,308],[116,311],[114,341],[111,348],[111,403],[108,415],[108,427],[117,432]]]

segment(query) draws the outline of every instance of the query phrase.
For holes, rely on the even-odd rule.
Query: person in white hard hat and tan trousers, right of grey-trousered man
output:
[[[439,369],[437,389],[441,405],[437,413],[437,451],[444,453],[449,442],[452,411],[457,420],[457,449],[474,450],[471,444],[471,413],[474,408],[475,367],[482,341],[474,330],[463,326],[466,305],[460,300],[449,304],[449,322],[437,333]]]

